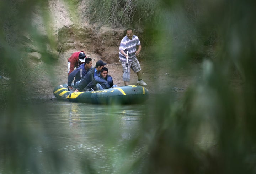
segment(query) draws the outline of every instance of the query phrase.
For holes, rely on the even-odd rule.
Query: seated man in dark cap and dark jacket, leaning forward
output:
[[[76,86],[76,90],[74,92],[83,91],[84,88],[94,79],[95,76],[100,74],[101,69],[106,65],[102,60],[99,60],[96,62],[96,66],[94,68],[91,68],[86,76],[84,76],[79,85]]]

